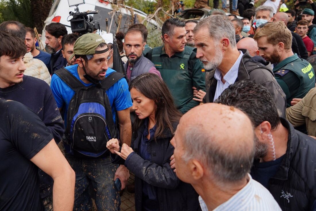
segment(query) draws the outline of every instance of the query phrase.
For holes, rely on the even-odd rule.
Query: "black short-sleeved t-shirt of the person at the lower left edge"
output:
[[[32,159],[52,133],[25,105],[0,99],[0,210],[44,210]]]

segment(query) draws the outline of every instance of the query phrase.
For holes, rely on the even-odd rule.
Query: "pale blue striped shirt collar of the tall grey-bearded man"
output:
[[[234,65],[228,70],[226,75],[224,75],[224,80],[226,81],[225,83],[222,82],[222,74],[219,71],[219,69],[216,68],[214,78],[217,80],[217,85],[216,85],[216,91],[215,91],[215,96],[214,100],[215,101],[226,89],[229,85],[233,84],[238,76],[238,69],[239,69],[239,64],[241,61],[242,56],[244,55],[243,52],[239,51],[240,55],[237,58],[236,62]]]

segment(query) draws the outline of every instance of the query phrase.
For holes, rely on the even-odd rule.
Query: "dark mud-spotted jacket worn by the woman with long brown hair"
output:
[[[177,124],[174,125],[174,129],[176,126]],[[160,211],[201,210],[197,192],[190,184],[180,181],[170,168],[170,157],[174,150],[170,143],[173,137],[170,130],[166,129],[164,131],[164,138],[157,138],[156,141],[153,140],[150,142],[151,162],[144,160],[138,155],[138,147],[143,136],[143,131],[144,125],[139,128],[137,137],[131,144],[131,148],[133,148],[135,154],[131,155],[128,165],[125,165],[135,174],[136,211],[142,211],[143,181],[156,187]],[[117,160],[116,157],[113,162],[120,163]]]

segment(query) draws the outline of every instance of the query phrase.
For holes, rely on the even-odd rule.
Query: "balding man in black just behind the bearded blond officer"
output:
[[[271,20],[273,22],[277,22],[277,21],[283,21],[285,23],[285,25],[288,24],[289,22],[289,16],[288,14],[286,14],[285,12],[277,12],[276,14],[273,15],[273,17],[271,18]],[[298,52],[296,52],[296,47],[294,49],[295,44],[293,44],[293,39],[292,39],[292,51],[294,53],[299,53],[298,56],[300,56],[302,59],[307,59],[308,57],[308,53],[305,47],[305,44],[303,42],[303,39],[300,37],[300,35],[298,35],[297,33],[292,32],[292,37],[295,39],[296,43],[297,43],[297,48],[298,48]]]

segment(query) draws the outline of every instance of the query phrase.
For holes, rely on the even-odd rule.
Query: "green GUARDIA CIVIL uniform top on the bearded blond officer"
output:
[[[276,81],[286,95],[287,107],[293,98],[303,98],[315,87],[314,69],[310,63],[294,54],[273,68]]]

